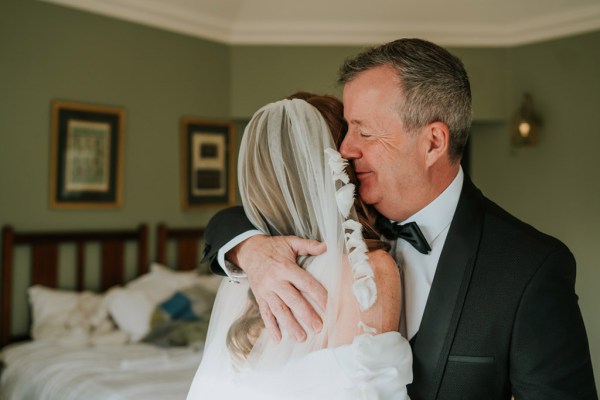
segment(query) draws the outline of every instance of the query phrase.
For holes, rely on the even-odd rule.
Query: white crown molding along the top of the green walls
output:
[[[421,37],[445,46],[516,46],[600,29],[600,4],[512,24],[289,23],[232,21],[148,0],[41,0],[233,45],[370,45]]]

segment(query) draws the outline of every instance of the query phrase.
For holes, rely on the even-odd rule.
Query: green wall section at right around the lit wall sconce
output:
[[[509,50],[506,118],[476,125],[473,179],[517,217],[565,242],[600,382],[600,32]],[[539,144],[511,148],[505,121],[532,94]]]

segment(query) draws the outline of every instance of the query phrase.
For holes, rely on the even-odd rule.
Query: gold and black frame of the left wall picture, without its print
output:
[[[88,124],[89,132],[104,139],[104,146],[94,155],[96,164],[102,163],[99,184],[79,183],[69,186],[69,163],[76,153],[72,137],[76,130]],[[95,138],[94,138],[95,139]],[[108,144],[108,145],[107,145]],[[69,148],[69,145],[72,147]],[[74,102],[52,102],[52,140],[50,146],[50,207],[56,209],[105,209],[120,207],[123,201],[123,162],[125,145],[125,111],[118,107],[97,106]],[[108,154],[105,154],[108,153]],[[77,187],[76,187],[77,186]]]

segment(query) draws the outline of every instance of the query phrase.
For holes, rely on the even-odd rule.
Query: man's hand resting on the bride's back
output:
[[[296,236],[256,235],[227,253],[227,258],[246,272],[271,338],[279,342],[281,331],[298,341],[306,339],[305,326],[320,331],[319,314],[302,293],[325,310],[327,291],[311,274],[296,264],[303,255],[319,255],[324,243]]]

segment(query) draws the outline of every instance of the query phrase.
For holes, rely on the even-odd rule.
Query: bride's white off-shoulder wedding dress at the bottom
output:
[[[225,280],[217,302],[224,296],[239,297],[235,292],[245,292],[243,285]],[[226,352],[226,332],[221,333],[207,342],[188,400],[409,399],[406,385],[412,382],[412,352],[398,332],[359,335],[351,344],[316,350],[281,367],[239,371]],[[282,346],[286,340],[293,339],[284,338]],[[270,345],[277,350],[277,345]]]

